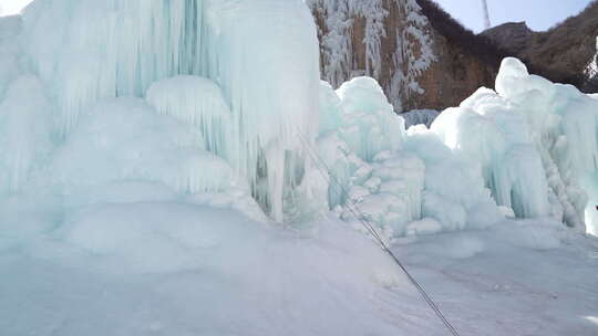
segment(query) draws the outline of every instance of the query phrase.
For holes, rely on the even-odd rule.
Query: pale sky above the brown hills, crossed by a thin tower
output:
[[[0,0],[1,1],[1,0]],[[482,0],[435,0],[463,25],[481,32],[484,29]],[[492,25],[526,21],[535,31],[579,13],[591,0],[487,0]]]

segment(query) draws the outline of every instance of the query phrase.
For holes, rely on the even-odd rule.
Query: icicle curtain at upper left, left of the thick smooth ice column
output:
[[[143,96],[156,80],[198,73],[202,0],[34,1],[23,14],[30,67],[66,135],[100,98]]]

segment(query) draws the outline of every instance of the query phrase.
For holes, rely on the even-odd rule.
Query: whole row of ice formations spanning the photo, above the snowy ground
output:
[[[251,196],[277,221],[357,207],[388,238],[512,212],[596,227],[598,101],[517,60],[405,130],[374,80],[319,82],[300,0],[47,0],[22,20],[0,35],[2,196]]]

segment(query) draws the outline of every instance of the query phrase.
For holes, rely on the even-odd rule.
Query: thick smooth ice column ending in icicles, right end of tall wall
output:
[[[313,19],[301,0],[213,0],[205,17],[206,75],[233,111],[231,162],[281,221],[282,200],[309,170],[301,139],[312,143],[318,129]]]

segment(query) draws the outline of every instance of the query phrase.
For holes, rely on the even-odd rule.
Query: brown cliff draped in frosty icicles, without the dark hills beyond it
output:
[[[319,27],[322,77],[333,86],[372,76],[395,111],[404,112],[456,106],[480,86],[494,84],[499,59],[481,57],[467,40],[446,34],[444,21],[434,24],[430,13],[440,9],[430,0],[307,2]]]

